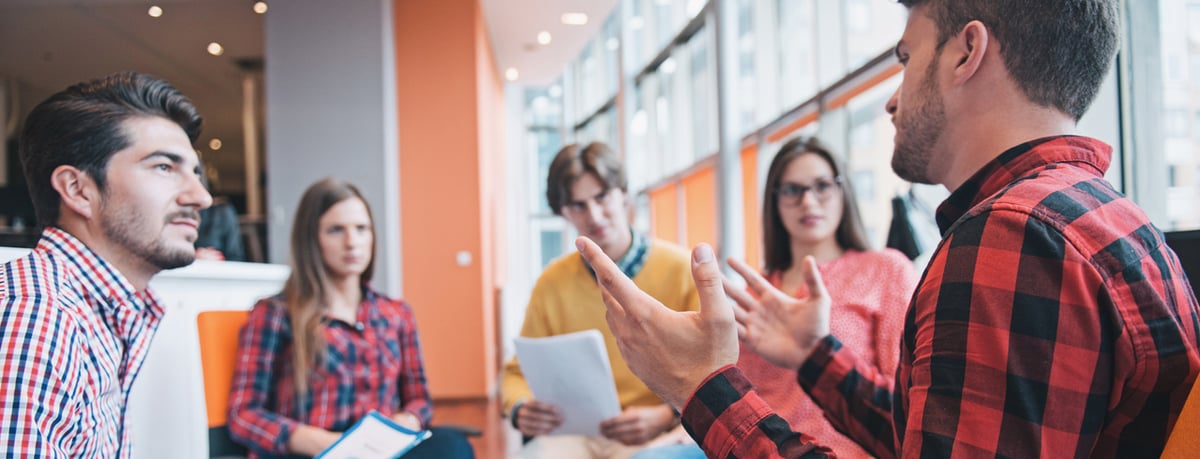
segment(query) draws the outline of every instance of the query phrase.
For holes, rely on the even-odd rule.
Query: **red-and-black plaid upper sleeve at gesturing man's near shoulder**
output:
[[[954,227],[905,333],[904,457],[1091,455],[1112,389],[1102,292],[1090,261],[1027,210]]]

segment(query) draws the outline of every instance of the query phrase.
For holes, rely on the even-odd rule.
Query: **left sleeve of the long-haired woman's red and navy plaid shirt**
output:
[[[289,335],[283,305],[264,299],[250,311],[238,335],[238,360],[229,392],[229,434],[239,443],[262,454],[286,454],[288,440],[300,425],[268,409],[276,391],[280,368]]]

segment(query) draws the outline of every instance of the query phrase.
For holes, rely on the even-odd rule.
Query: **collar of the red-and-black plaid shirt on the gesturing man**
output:
[[[1103,177],[1112,160],[1112,147],[1079,136],[1043,137],[1013,147],[976,172],[937,207],[937,227],[946,232],[976,204],[1019,178],[1050,163],[1073,162]]]

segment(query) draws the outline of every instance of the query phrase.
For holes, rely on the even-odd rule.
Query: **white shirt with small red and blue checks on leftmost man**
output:
[[[0,266],[0,455],[130,457],[125,407],[162,314],[58,228]]]

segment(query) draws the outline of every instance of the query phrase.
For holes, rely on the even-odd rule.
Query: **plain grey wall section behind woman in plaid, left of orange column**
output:
[[[390,0],[289,0],[265,24],[269,260],[287,263],[300,195],[336,175],[376,217],[376,287],[400,296],[400,191]]]

